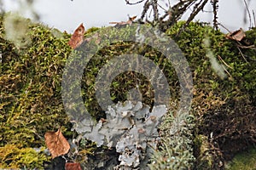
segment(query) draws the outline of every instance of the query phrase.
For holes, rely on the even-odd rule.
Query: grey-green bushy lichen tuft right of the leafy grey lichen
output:
[[[162,123],[160,150],[154,152],[149,167],[151,169],[192,169],[194,116],[180,112],[166,115]]]

